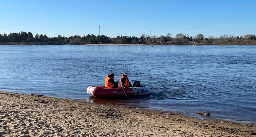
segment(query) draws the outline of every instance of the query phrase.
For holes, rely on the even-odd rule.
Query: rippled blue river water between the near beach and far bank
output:
[[[0,90],[256,121],[256,46],[1,45]],[[88,86],[127,73],[152,93],[100,99]]]

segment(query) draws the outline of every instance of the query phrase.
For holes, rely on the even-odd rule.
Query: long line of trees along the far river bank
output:
[[[203,44],[254,44],[256,45],[255,34],[247,34],[244,36],[223,35],[220,37],[204,37],[203,34],[197,34],[196,36],[189,36],[188,34],[176,34],[175,37],[171,33],[166,36],[150,36],[142,34],[140,37],[135,36],[116,36],[107,37],[106,35],[75,35],[71,37],[48,37],[46,34],[39,35],[36,33],[33,36],[31,32],[19,32],[0,34],[0,42],[48,42],[48,43],[120,43],[120,44],[191,44],[191,43],[203,43]]]

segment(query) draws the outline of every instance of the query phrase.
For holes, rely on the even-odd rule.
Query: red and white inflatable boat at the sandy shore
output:
[[[129,88],[106,88],[105,86],[89,86],[87,93],[94,97],[129,97],[148,95],[151,90],[148,87],[129,87]]]

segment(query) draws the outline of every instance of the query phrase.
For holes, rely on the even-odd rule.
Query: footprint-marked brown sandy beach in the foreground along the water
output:
[[[0,91],[0,136],[256,136],[255,124]]]

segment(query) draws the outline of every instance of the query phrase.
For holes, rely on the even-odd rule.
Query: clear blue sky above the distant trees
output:
[[[98,35],[99,25],[108,37],[256,34],[255,0],[0,0],[0,13],[0,34]]]

